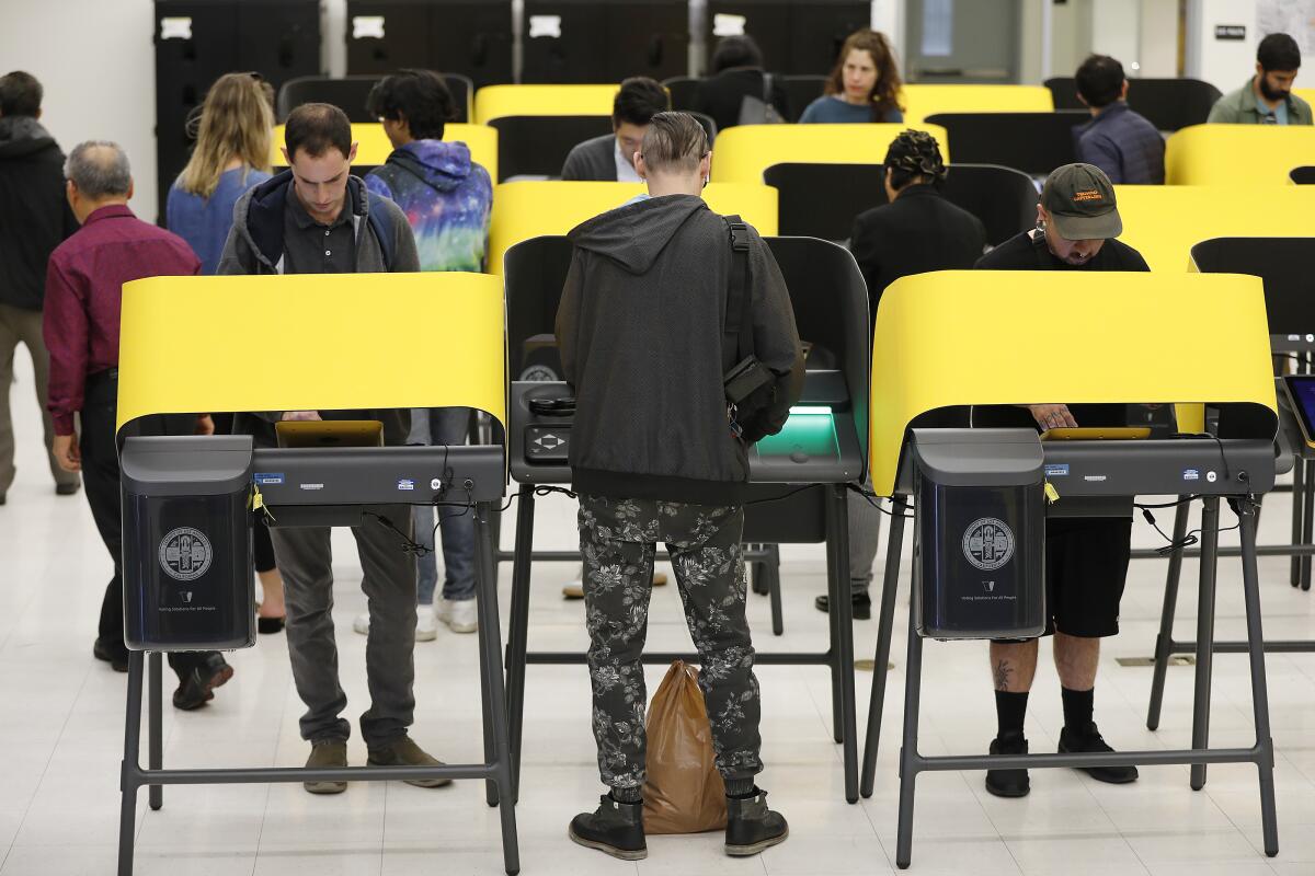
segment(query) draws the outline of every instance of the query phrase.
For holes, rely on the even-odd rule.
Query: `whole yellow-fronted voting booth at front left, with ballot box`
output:
[[[299,331],[268,344],[251,331],[256,313]],[[508,873],[519,871],[490,533],[506,487],[502,314],[498,280],[475,273],[155,277],[125,285],[118,432],[125,613],[134,650],[120,876],[133,869],[137,792],[143,785],[150,788],[151,809],[159,809],[166,784],[439,777],[485,780],[489,805],[500,806],[504,865]],[[437,347],[397,343],[402,327],[418,323],[442,324],[450,336]],[[227,355],[214,356],[216,349]],[[448,406],[489,415],[497,423],[496,443],[258,447],[246,435],[132,436],[135,420],[158,414],[313,410],[333,419],[335,411]],[[163,768],[160,651],[254,644],[249,626],[224,613],[243,611],[246,624],[252,616],[246,540],[254,516],[266,515],[271,527],[383,525],[371,519],[377,510],[410,504],[462,506],[475,519],[484,760],[438,767]],[[396,535],[397,550],[412,549],[405,533]],[[212,605],[214,612],[197,612],[216,615],[208,628],[185,619],[188,608]],[[245,638],[220,620],[231,621]],[[189,633],[195,634],[188,638]],[[146,768],[139,760],[143,650],[150,651]]]

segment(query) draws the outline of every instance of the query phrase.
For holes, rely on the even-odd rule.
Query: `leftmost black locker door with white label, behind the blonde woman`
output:
[[[210,83],[239,68],[233,0],[155,0],[154,39],[158,221],[163,225],[168,188],[191,151],[188,116]]]

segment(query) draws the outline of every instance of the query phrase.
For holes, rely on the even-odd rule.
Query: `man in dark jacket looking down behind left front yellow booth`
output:
[[[233,208],[221,274],[383,273],[419,271],[406,217],[387,198],[372,198],[351,176],[356,146],[347,116],[329,104],[304,104],[284,126],[288,169],[251,189]],[[277,380],[277,376],[271,376]],[[267,415],[283,420],[318,420],[320,411]],[[405,411],[334,411],[334,419],[370,419],[384,424],[384,443],[406,443]],[[243,416],[250,423],[254,418]],[[250,428],[258,443],[268,426]],[[416,711],[416,561],[397,533],[412,535],[410,507],[387,506],[387,519],[352,527],[370,605],[366,674],[370,709],[360,733],[370,766],[439,763],[408,735]],[[310,742],[308,767],[347,766],[351,724],[342,717],[347,695],[338,683],[338,647],[333,629],[333,561],[329,527],[272,528],[274,554],[287,587],[288,653],[297,693],[306,704],[301,737]],[[434,788],[447,779],[410,784]],[[345,781],[308,781],[310,793],[341,793]]]

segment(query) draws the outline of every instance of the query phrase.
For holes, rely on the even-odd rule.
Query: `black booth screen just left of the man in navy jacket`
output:
[[[1045,176],[1077,160],[1073,126],[1089,121],[1085,112],[1055,113],[938,113],[928,125],[949,135],[955,163],[1001,164],[1032,176]]]

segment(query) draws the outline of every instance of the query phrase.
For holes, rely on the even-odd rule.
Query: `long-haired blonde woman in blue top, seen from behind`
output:
[[[259,74],[225,74],[205,95],[196,148],[175,180],[166,204],[170,231],[187,240],[201,260],[201,273],[213,274],[233,226],[233,205],[250,188],[270,179],[274,138],[272,89]],[[231,414],[214,412],[216,432],[231,431]],[[285,624],[283,577],[274,561],[270,531],[252,533],[255,570],[264,598],[256,629],[277,633]]]

